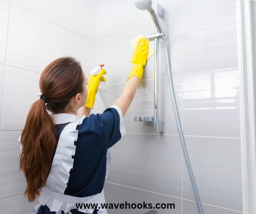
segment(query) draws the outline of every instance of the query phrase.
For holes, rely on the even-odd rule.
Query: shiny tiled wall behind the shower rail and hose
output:
[[[166,10],[176,99],[205,214],[242,213],[236,16],[233,0],[159,0]],[[154,32],[133,1],[97,1],[96,64],[105,64],[108,86],[121,95],[131,68],[130,40]],[[150,43],[154,47],[154,43]],[[154,59],[125,116],[128,132],[113,147],[105,185],[107,202],[175,203],[159,214],[197,214],[174,117],[163,42],[160,43],[160,115],[163,135],[133,116],[153,116]],[[95,111],[102,110],[100,99]],[[109,210],[142,214],[146,210]]]

